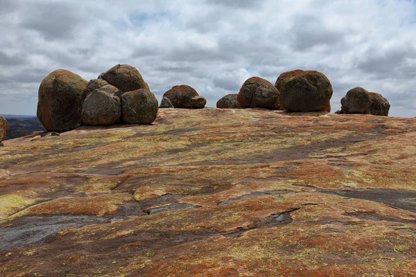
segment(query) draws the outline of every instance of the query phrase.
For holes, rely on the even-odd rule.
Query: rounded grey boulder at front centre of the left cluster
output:
[[[96,89],[83,102],[84,125],[112,125],[121,120],[121,100],[107,91]]]

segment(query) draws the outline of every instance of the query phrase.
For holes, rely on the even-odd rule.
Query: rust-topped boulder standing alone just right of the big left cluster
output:
[[[172,87],[163,96],[168,98],[175,108],[202,109],[207,104],[207,100],[187,84]]]

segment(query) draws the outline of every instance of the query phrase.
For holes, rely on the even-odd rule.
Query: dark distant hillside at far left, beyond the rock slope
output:
[[[6,139],[15,139],[20,136],[27,136],[35,131],[46,131],[37,117],[15,116],[10,118],[4,115],[8,121]]]

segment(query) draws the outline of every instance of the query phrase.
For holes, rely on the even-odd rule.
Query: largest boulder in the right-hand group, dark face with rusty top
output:
[[[288,111],[331,111],[331,82],[318,71],[281,73],[275,87],[281,94],[281,106]]]

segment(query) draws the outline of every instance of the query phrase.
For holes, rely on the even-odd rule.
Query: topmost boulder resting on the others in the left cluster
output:
[[[148,84],[144,82],[139,71],[128,64],[117,64],[107,72],[101,73],[98,78],[106,80],[109,84],[123,92],[135,91],[137,89],[150,91]]]

